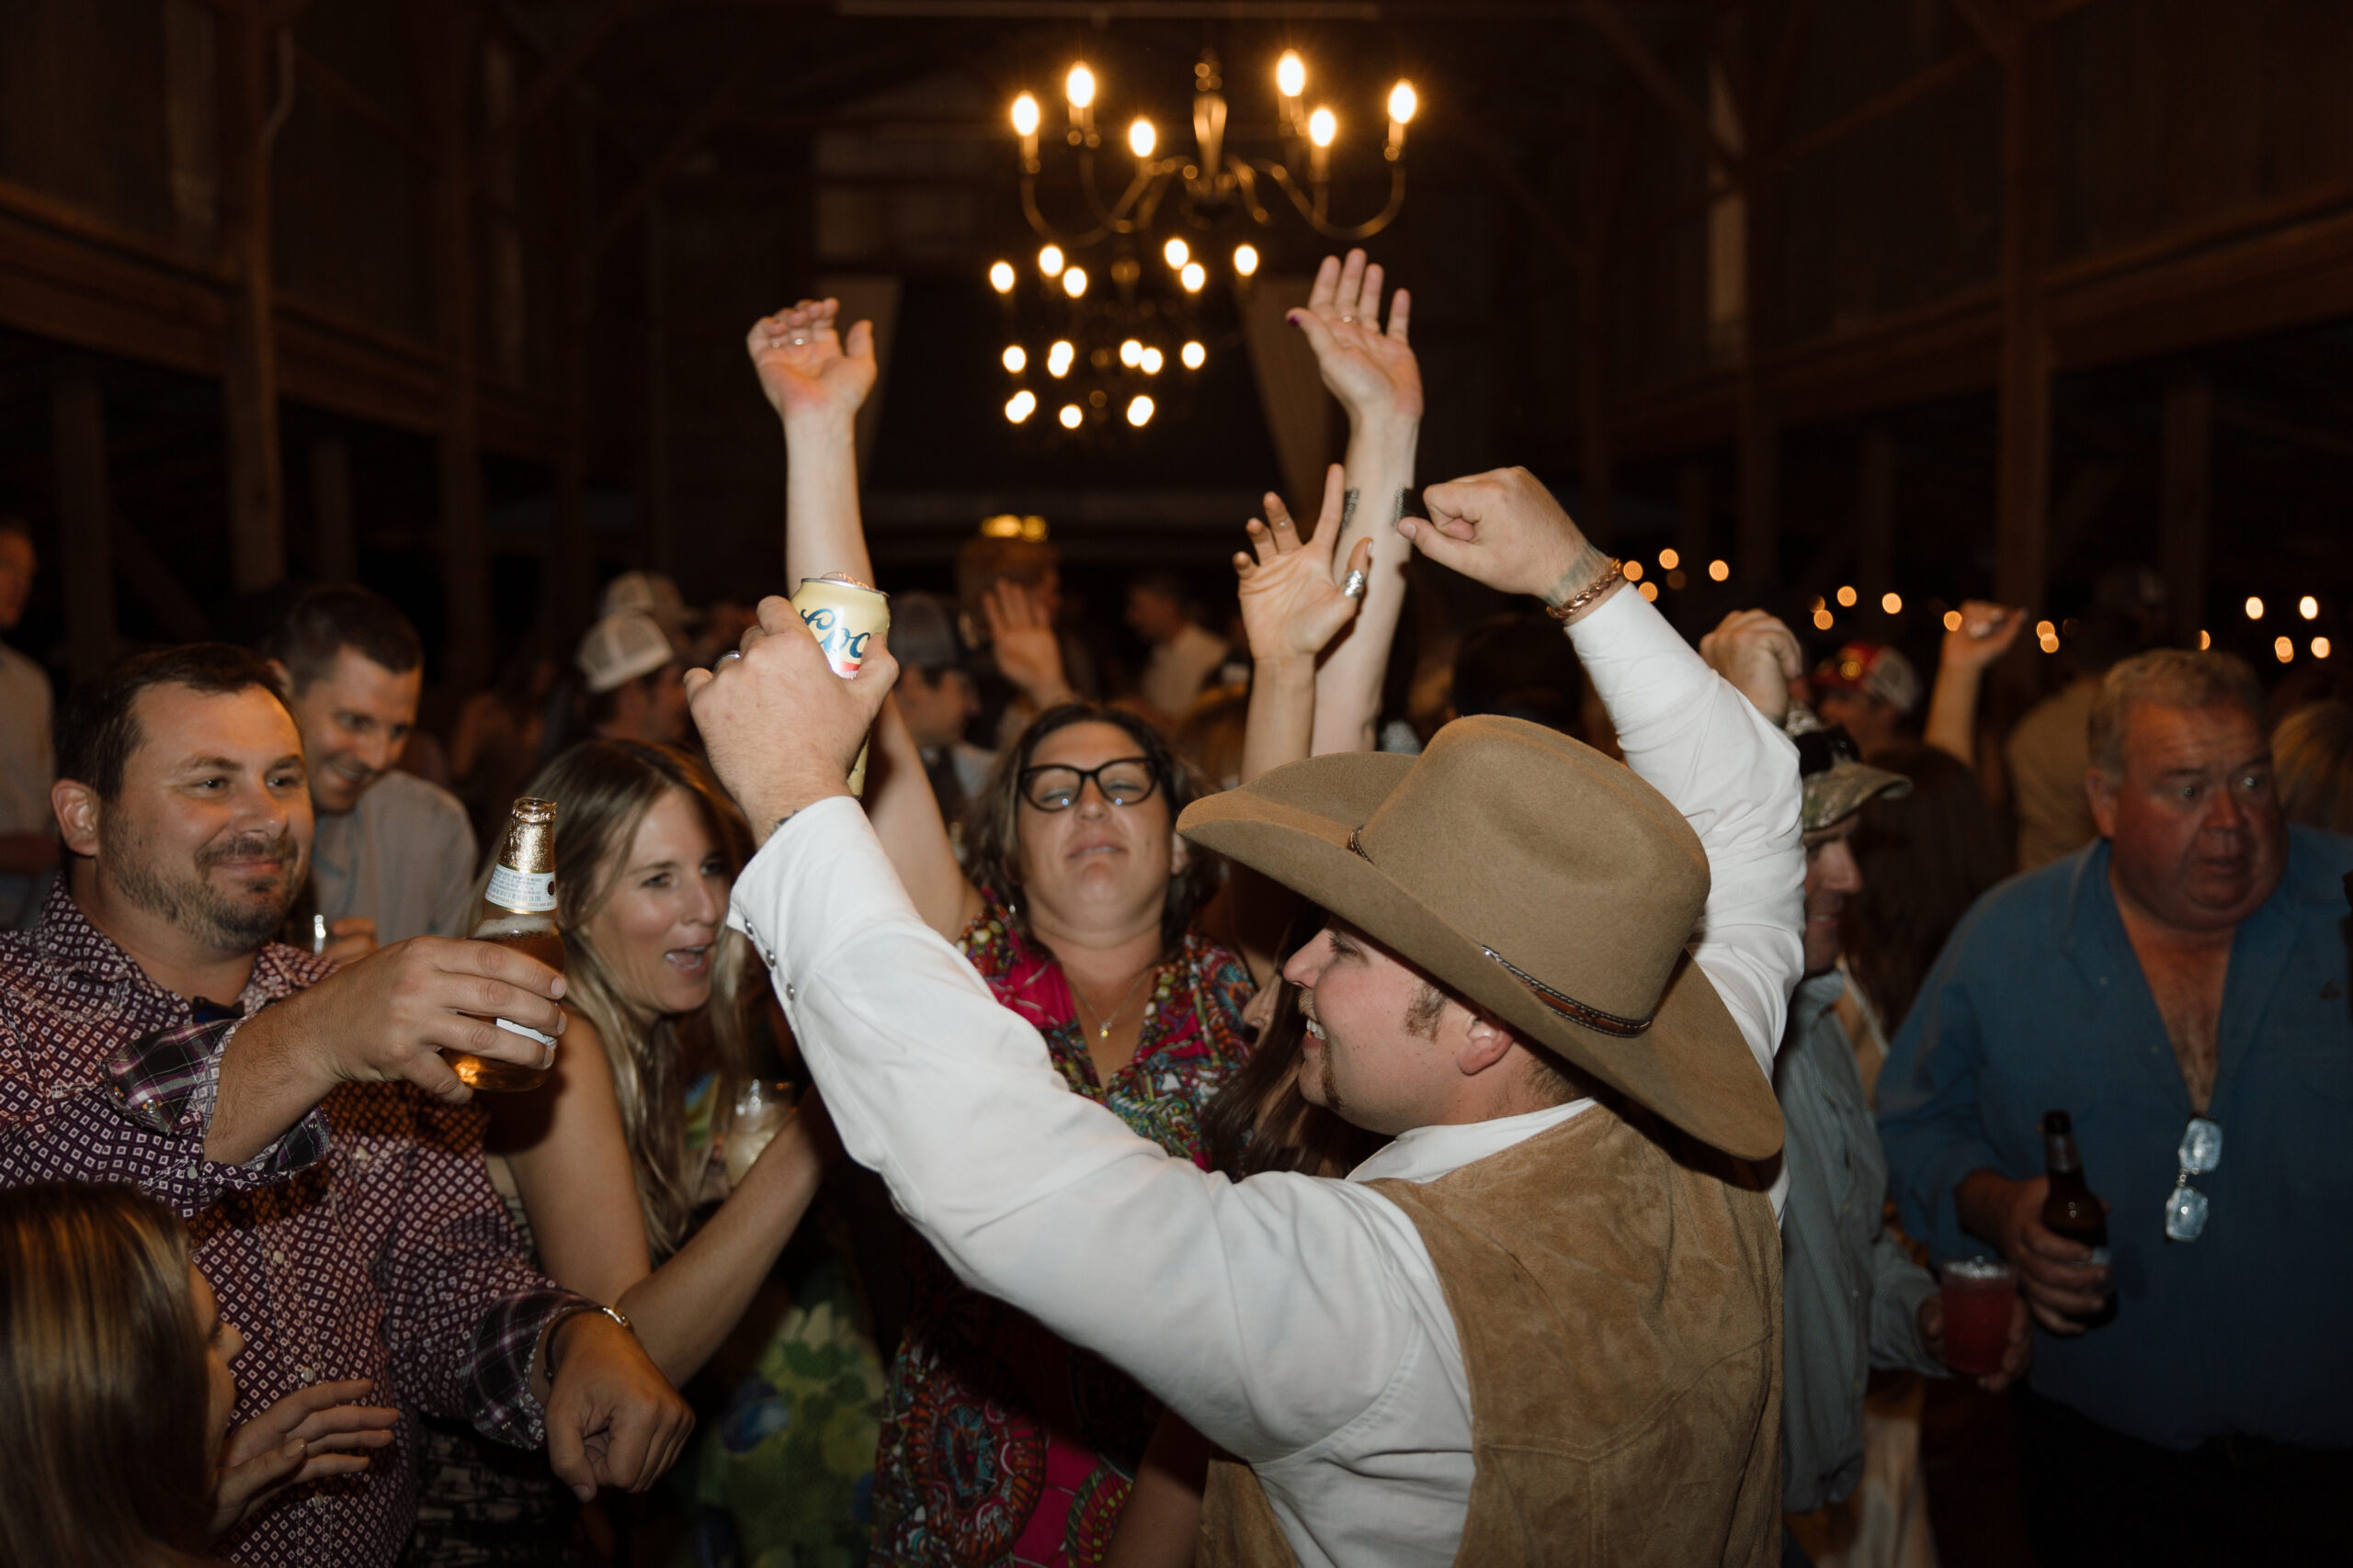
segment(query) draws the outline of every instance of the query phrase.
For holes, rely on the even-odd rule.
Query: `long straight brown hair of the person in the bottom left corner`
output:
[[[200,1561],[209,1408],[181,1222],[136,1187],[0,1192],[0,1561]]]

